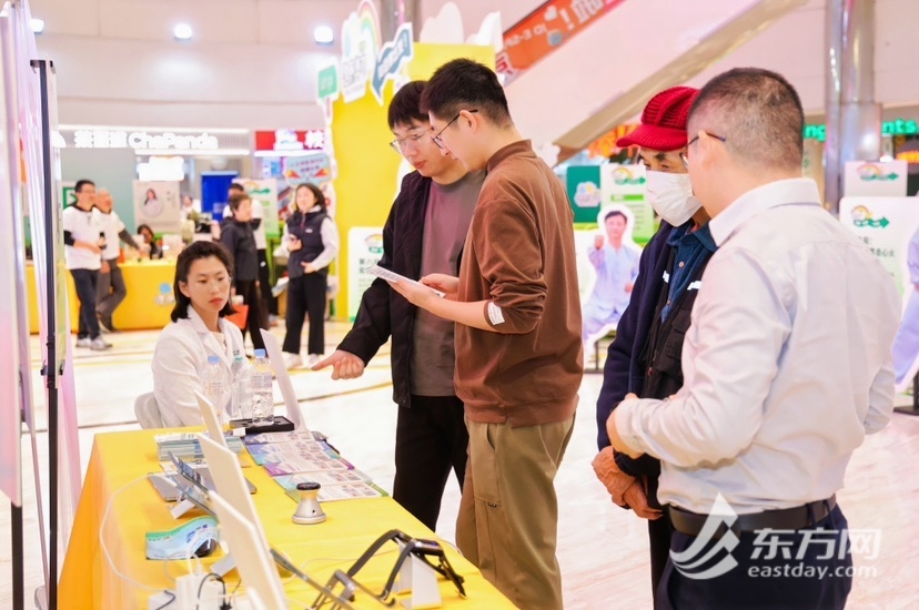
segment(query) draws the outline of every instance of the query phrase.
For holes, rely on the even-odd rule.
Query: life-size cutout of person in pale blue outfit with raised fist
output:
[[[597,234],[594,245],[587,252],[587,258],[597,272],[597,281],[582,314],[585,350],[589,350],[597,338],[616,327],[638,276],[640,252],[630,240],[629,243],[623,241],[627,226],[628,217],[624,212],[606,212],[603,216],[606,240],[603,234]]]

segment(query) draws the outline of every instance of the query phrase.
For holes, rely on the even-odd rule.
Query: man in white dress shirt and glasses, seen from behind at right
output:
[[[718,251],[684,384],[664,399],[627,395],[606,425],[614,450],[660,459],[674,535],[656,607],[841,609],[852,559],[836,492],[865,435],[890,419],[897,289],[801,177],[804,110],[785,78],[715,77],[687,132]]]

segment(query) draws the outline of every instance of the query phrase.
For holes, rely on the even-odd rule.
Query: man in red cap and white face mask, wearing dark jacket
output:
[[[670,549],[670,523],[657,501],[660,462],[633,459],[609,446],[606,420],[627,394],[667,398],[683,386],[680,356],[701,275],[716,250],[708,214],[691,196],[684,162],[686,121],[697,89],[674,87],[648,101],[642,124],[620,138],[620,148],[638,146],[647,169],[647,199],[660,216],[638,266],[638,278],[616,328],[597,399],[597,478],[613,501],[648,520],[652,587],[656,597]]]

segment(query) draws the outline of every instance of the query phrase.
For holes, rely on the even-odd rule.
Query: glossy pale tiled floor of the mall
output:
[[[335,345],[346,325],[330,324],[326,343]],[[276,329],[279,335],[283,331]],[[89,459],[93,435],[137,427],[133,399],[152,389],[150,358],[156,333],[113,335],[109,353],[78,352],[74,358],[80,420],[82,468]],[[38,339],[33,339],[38,353]],[[38,363],[34,363],[36,370]],[[364,378],[332,382],[327,373],[296,372],[293,383],[303,400],[310,427],[322,430],[336,447],[383,487],[393,480],[395,408],[388,383],[386,348],[368,367]],[[40,377],[33,378],[41,400]],[[595,480],[590,460],[596,453],[594,404],[602,376],[588,374],[580,392],[580,409],[574,437],[559,471],[559,561],[566,608],[650,608],[645,523],[613,506]],[[280,394],[276,396],[280,400]],[[901,396],[899,403],[911,398]],[[39,407],[39,428],[46,416]],[[42,472],[47,472],[47,435],[39,435]],[[23,437],[23,487],[26,495],[26,591],[41,584],[31,448]],[[869,437],[849,466],[840,505],[852,528],[880,528],[880,555],[873,577],[857,577],[849,608],[906,609],[919,603],[916,567],[919,566],[919,418],[895,415],[891,425]],[[44,481],[47,486],[47,480]],[[44,495],[47,498],[47,494]],[[458,506],[458,487],[452,480],[444,500],[437,532],[452,540]],[[47,500],[46,500],[47,501]],[[11,606],[10,519],[0,510],[0,608]],[[381,523],[381,531],[385,523]],[[857,562],[859,560],[857,559]],[[862,561],[862,565],[869,562]],[[472,607],[472,606],[471,606]],[[61,608],[67,608],[62,604]]]

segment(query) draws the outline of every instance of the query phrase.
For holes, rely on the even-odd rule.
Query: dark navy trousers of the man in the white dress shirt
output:
[[[818,528],[826,531],[817,532]],[[741,532],[736,548],[730,550],[730,557],[737,566],[723,576],[709,579],[690,578],[675,568],[671,558],[667,562],[655,608],[841,609],[846,606],[846,598],[852,588],[852,556],[848,548],[847,535],[846,517],[837,506],[814,527],[797,531],[772,530],[777,541],[771,543],[769,537],[755,543],[760,533]],[[804,542],[808,540],[807,536],[811,538],[809,542]],[[670,548],[678,553],[688,549],[696,540],[694,536],[676,531]],[[708,541],[684,565],[688,566],[691,560],[703,558],[724,540]],[[846,548],[840,559],[839,549],[842,545],[846,545]],[[698,575],[720,565],[727,559],[726,548],[718,550],[710,560],[693,568],[691,573]],[[786,553],[788,559],[785,558]],[[818,575],[822,570],[826,572],[820,578],[806,576],[808,570]]]

